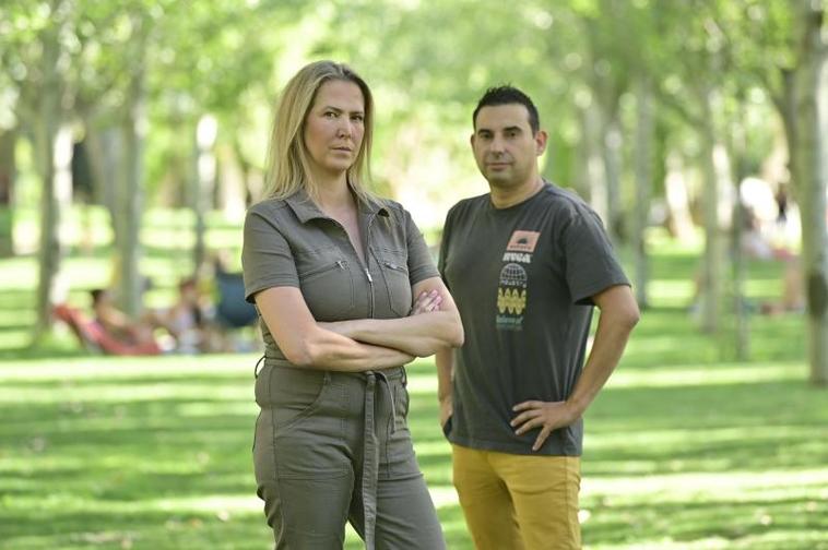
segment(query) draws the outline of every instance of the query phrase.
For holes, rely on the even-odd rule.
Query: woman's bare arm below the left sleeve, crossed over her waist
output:
[[[324,330],[314,319],[298,288],[268,288],[256,295],[256,304],[280,349],[297,367],[360,372],[414,359],[398,349],[363,344]]]

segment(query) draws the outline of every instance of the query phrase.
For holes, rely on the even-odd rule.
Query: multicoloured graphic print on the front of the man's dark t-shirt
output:
[[[497,286],[497,316],[495,325],[502,331],[521,331],[523,311],[527,309],[529,276],[520,264],[532,263],[540,231],[518,229],[511,235],[506,246]]]

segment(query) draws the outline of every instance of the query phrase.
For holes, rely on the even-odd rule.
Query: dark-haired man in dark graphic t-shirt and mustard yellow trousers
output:
[[[472,120],[489,193],[451,208],[440,248],[466,336],[437,354],[454,487],[481,550],[580,548],[582,416],[638,306],[595,213],[541,178],[547,136],[532,100],[490,88]]]

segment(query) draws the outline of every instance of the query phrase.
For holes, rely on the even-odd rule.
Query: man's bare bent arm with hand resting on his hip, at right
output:
[[[516,434],[541,428],[532,451],[541,449],[553,430],[569,426],[583,416],[618,364],[629,334],[640,319],[636,299],[626,285],[610,287],[593,296],[592,300],[601,314],[592,350],[572,394],[565,402],[528,400],[512,407],[518,412],[511,421]]]

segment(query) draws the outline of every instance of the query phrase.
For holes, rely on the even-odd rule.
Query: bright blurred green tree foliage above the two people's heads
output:
[[[350,62],[376,92],[378,190],[403,196],[422,189],[417,200],[430,206],[480,189],[470,113],[483,89],[502,82],[536,99],[553,138],[545,172],[566,186],[582,163],[578,110],[590,97],[624,110],[641,76],[660,91],[657,124],[667,148],[698,151],[693,87],[709,84],[725,96],[722,119],[766,136],[747,152],[756,166],[778,131],[779,68],[792,67],[796,47],[784,0],[7,0],[0,81],[10,93],[0,107],[16,106],[20,123],[32,122],[40,43],[60,23],[66,107],[98,128],[117,124],[139,57],[137,14],[147,33],[151,203],[163,186],[192,178],[192,134],[205,112],[220,120],[220,146],[261,169],[274,97],[298,67],[322,57]],[[624,134],[632,135],[632,117],[622,115]]]

